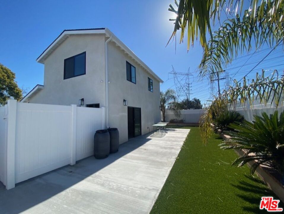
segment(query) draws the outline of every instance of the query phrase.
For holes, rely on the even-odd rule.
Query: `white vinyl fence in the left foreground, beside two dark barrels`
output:
[[[15,183],[93,154],[104,108],[17,103],[0,107],[0,180]]]

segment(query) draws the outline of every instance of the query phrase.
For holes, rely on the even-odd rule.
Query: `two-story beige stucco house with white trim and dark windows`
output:
[[[106,128],[118,128],[120,144],[161,121],[163,81],[107,28],[64,30],[36,61],[44,85],[21,102],[106,107]]]

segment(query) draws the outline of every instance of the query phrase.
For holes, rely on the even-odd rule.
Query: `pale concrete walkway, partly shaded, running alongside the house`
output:
[[[139,136],[108,158],[78,161],[0,187],[0,213],[149,213],[189,129]]]

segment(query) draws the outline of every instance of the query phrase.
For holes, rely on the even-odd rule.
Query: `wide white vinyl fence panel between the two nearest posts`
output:
[[[15,182],[70,163],[71,106],[17,103]]]

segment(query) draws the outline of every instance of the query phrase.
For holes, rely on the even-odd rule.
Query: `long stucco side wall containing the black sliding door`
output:
[[[119,129],[120,142],[128,140],[127,106],[141,108],[141,131],[152,131],[161,121],[159,82],[124,53],[115,43],[109,43],[109,125]],[[126,79],[126,61],[136,67],[136,84]],[[153,80],[153,92],[148,91],[148,77]],[[127,100],[127,106],[123,105]]]

